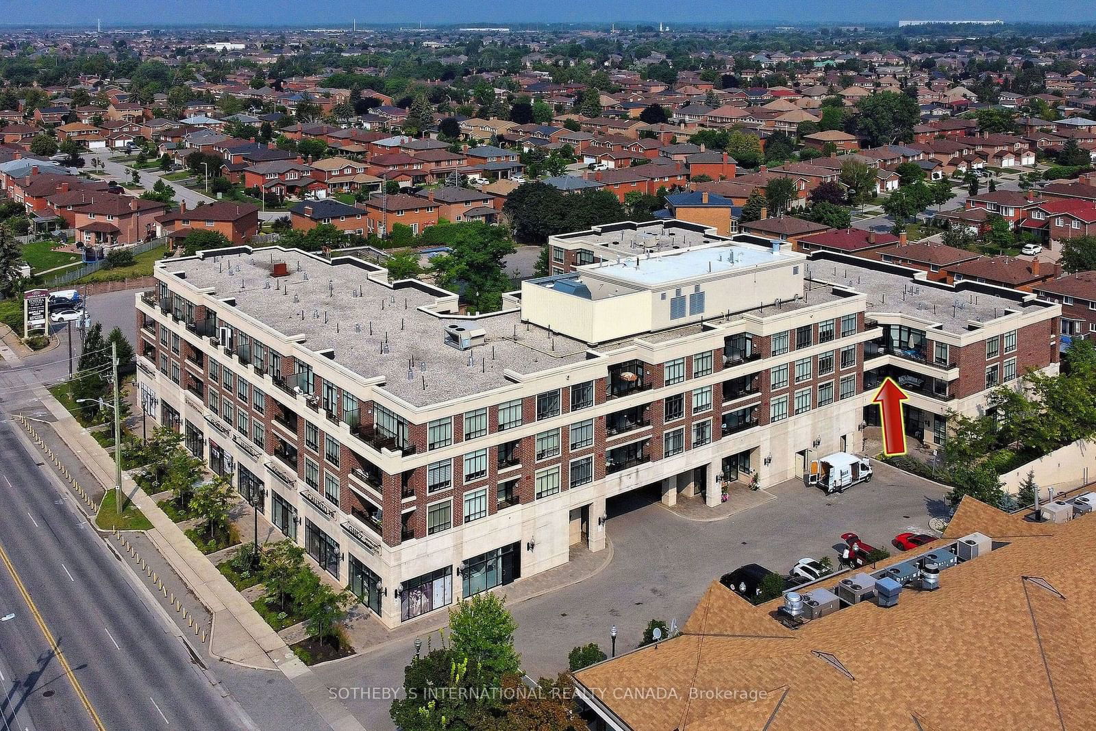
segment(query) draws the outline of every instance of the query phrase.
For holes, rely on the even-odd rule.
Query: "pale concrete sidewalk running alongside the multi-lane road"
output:
[[[0,355],[20,365],[19,356],[7,344]],[[114,486],[112,457],[88,434],[87,430],[69,414],[53,396],[39,385],[27,384],[27,395],[36,397],[42,409],[23,409],[25,415],[42,422],[55,432],[58,445],[71,455],[70,470],[76,468],[88,476],[85,484]],[[60,453],[65,454],[65,453]],[[81,469],[82,466],[82,469]],[[282,641],[277,632],[248,604],[217,568],[172,523],[156,502],[127,475],[123,473],[123,490],[145,513],[152,529],[146,532],[148,540],[197,599],[213,615],[209,653],[227,662],[265,671],[279,670],[293,682],[301,695],[334,731],[364,731],[364,727],[336,699],[327,687]],[[96,491],[99,492],[99,491]]]

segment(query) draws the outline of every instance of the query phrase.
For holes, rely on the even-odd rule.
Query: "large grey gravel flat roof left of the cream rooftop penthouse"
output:
[[[285,261],[289,275],[272,277],[273,261]],[[419,308],[432,307],[441,290],[392,289],[361,266],[279,248],[168,260],[165,270],[184,273],[195,287],[213,288],[218,299],[235,297],[237,310],[283,335],[304,335],[311,351],[334,351],[335,363],[365,378],[383,378],[386,391],[418,407],[505,387],[513,382],[503,374],[507,368],[533,374],[586,359],[585,343],[523,323],[516,311],[472,321],[423,311]],[[486,343],[467,351],[446,345],[449,323],[482,328]]]

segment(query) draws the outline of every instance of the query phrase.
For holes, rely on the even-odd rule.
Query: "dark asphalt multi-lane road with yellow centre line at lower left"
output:
[[[256,728],[13,430],[0,422],[0,547],[71,675],[0,566],[0,617],[15,615],[0,623],[4,722],[96,729],[78,684],[111,731]]]

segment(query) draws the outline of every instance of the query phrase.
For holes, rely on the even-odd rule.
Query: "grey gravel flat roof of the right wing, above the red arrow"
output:
[[[938,322],[944,331],[962,333],[968,322],[990,322],[1006,310],[1034,312],[1042,308],[984,292],[952,289],[946,285],[912,279],[909,275],[826,259],[811,260],[807,276],[864,293],[869,312],[893,312]]]

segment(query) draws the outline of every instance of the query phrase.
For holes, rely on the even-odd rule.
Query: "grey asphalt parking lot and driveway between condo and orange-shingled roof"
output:
[[[712,523],[671,513],[653,491],[610,500],[606,527],[612,562],[591,579],[511,607],[525,671],[533,677],[555,676],[567,669],[571,648],[586,642],[608,652],[613,625],[619,652],[636,648],[651,619],[681,627],[710,582],[743,563],[787,573],[802,557],[829,556],[836,566],[843,533],[855,532],[892,552],[897,534],[932,533],[928,519],[946,513],[946,491],[886,465],[874,466],[871,482],[844,494],[827,496],[789,481],[769,490],[776,500]],[[374,652],[361,650],[361,655],[321,666],[318,673],[332,687],[399,687],[414,654],[410,638]],[[365,697],[346,703],[370,729],[392,728],[389,704]]]

